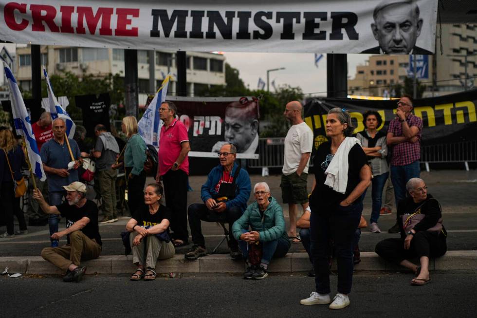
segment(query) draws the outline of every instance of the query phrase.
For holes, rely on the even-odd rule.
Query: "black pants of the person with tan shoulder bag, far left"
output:
[[[26,222],[23,211],[20,209],[20,198],[15,197],[15,188],[13,183],[4,182],[1,185],[0,192],[1,206],[3,207],[5,225],[7,226],[7,233],[9,235],[15,234],[13,225],[13,216],[18,219],[20,230],[26,230]]]

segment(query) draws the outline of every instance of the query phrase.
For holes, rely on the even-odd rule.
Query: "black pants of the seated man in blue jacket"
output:
[[[218,213],[211,211],[204,204],[191,204],[187,211],[189,216],[190,233],[192,242],[205,247],[205,239],[202,235],[201,220],[205,222],[222,222],[229,224],[229,247],[237,248],[238,242],[232,235],[232,224],[242,216],[242,209],[238,206],[232,206],[225,211]]]

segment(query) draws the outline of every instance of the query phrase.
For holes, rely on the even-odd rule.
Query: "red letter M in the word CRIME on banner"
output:
[[[113,8],[98,8],[98,11],[93,15],[92,7],[77,7],[78,13],[78,27],[76,28],[77,34],[85,34],[86,30],[83,26],[83,21],[86,19],[88,30],[91,34],[96,32],[96,26],[101,19],[101,28],[99,29],[99,35],[110,36],[112,35],[111,29],[111,16],[113,14]],[[129,20],[130,21],[130,20]]]

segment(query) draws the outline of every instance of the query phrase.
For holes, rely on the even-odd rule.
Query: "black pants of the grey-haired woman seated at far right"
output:
[[[374,251],[386,261],[399,264],[415,257],[442,256],[447,251],[447,244],[441,232],[419,231],[414,234],[409,249],[404,249],[404,239],[385,239],[376,245]]]

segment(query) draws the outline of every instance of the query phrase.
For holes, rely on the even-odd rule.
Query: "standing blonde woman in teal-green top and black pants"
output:
[[[124,167],[128,187],[128,206],[131,215],[143,203],[143,189],[146,184],[144,162],[146,161],[146,143],[138,134],[137,120],[133,116],[123,118],[121,129],[128,141],[124,150]],[[114,165],[113,165],[114,168]]]

